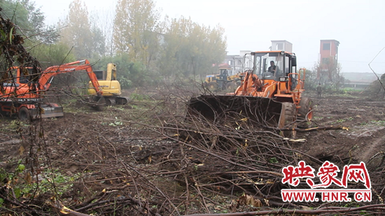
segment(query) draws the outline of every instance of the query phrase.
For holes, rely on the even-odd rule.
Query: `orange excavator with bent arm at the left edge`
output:
[[[20,120],[63,116],[62,106],[57,103],[43,102],[43,95],[50,87],[55,75],[73,71],[85,71],[87,73],[97,92],[93,99],[94,105],[104,104],[103,92],[99,87],[97,77],[92,71],[90,62],[85,59],[59,66],[50,66],[41,73],[38,69],[31,67],[10,68],[3,73],[1,78],[3,86],[0,92],[0,112],[10,115],[17,114]]]

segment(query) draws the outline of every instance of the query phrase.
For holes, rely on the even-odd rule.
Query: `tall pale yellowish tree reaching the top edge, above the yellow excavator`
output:
[[[159,17],[152,0],[119,0],[113,34],[117,54],[128,53],[149,68],[157,52]]]

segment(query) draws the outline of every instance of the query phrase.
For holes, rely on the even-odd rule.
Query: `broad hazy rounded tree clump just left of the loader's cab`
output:
[[[205,27],[185,17],[166,23],[158,61],[162,75],[172,79],[179,75],[202,75],[211,71],[213,64],[223,62],[226,42],[222,27]]]

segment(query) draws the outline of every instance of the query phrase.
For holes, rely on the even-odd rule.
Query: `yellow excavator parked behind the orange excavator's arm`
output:
[[[122,90],[120,89],[119,81],[116,80],[116,64],[109,63],[107,64],[107,71],[94,71],[94,73],[106,99],[106,106],[124,105],[127,103],[127,98],[120,96]],[[88,94],[97,94],[91,82],[89,82]]]

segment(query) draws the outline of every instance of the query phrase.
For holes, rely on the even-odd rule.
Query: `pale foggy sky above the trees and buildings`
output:
[[[46,23],[68,13],[71,0],[32,0],[41,6]],[[83,0],[88,12],[112,13],[117,0]],[[268,50],[272,40],[293,43],[299,66],[312,69],[320,40],[339,44],[342,72],[371,72],[367,64],[385,47],[383,0],[158,0],[162,15],[191,17],[194,22],[225,28],[228,54]],[[385,73],[385,50],[371,64]]]

